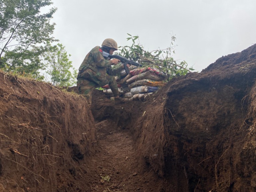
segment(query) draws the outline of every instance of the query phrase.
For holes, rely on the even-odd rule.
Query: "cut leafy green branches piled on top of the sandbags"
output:
[[[188,67],[186,61],[174,60],[172,54],[174,51],[175,36],[171,37],[171,45],[166,49],[156,49],[153,51],[146,51],[139,41],[136,44],[135,40],[139,40],[139,36],[132,36],[127,34],[129,37],[127,41],[131,40],[131,46],[119,47],[120,54],[133,61],[139,61],[144,66],[156,67],[159,70],[165,72],[170,80],[175,75],[186,75],[188,72],[194,70],[192,67]]]

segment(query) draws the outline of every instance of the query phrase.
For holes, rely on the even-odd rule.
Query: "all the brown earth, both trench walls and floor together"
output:
[[[0,191],[255,191],[255,56],[222,56],[145,101],[95,90],[91,106],[0,72]]]

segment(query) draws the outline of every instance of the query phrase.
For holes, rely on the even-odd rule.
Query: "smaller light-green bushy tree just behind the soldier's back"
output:
[[[44,53],[46,73],[55,86],[72,86],[76,83],[77,72],[69,61],[71,55],[67,54],[65,47],[58,43],[55,46],[47,43],[47,51]],[[72,72],[70,71],[72,69]]]

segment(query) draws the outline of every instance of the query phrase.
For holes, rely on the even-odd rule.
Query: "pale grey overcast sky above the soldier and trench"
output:
[[[167,48],[176,36],[175,60],[200,72],[219,57],[256,43],[255,0],[52,0],[58,10],[54,37],[78,69],[85,55],[106,38],[131,45],[139,36],[146,50]]]

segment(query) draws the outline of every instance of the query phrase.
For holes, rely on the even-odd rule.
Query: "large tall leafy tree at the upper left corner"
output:
[[[52,4],[51,0],[0,0],[1,68],[38,75],[43,44],[56,41],[50,19],[57,8],[40,14],[42,7]]]

